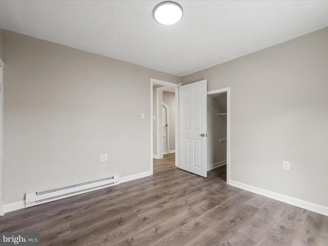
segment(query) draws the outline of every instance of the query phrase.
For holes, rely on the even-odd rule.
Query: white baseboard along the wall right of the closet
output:
[[[245,183],[240,183],[240,182],[237,182],[234,180],[230,180],[230,185],[234,186],[234,187],[238,187],[243,190],[247,190],[247,191],[262,195],[262,196],[270,197],[270,198],[278,200],[278,201],[289,203],[289,204],[292,204],[292,205],[302,208],[302,209],[310,210],[310,211],[328,216],[328,207],[324,207],[319,204],[315,204],[315,203],[312,203],[309,201],[304,201],[304,200],[294,198],[291,196],[282,195],[282,194],[279,194],[276,192],[264,190],[264,189],[257,188],[254,186],[246,185]]]

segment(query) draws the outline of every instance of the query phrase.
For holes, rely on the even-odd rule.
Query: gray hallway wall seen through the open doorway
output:
[[[175,150],[175,93],[163,91],[163,103],[169,106],[169,151]]]

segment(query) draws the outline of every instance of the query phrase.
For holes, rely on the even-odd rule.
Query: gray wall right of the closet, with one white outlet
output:
[[[328,28],[182,77],[231,87],[231,179],[328,206]],[[291,171],[281,161],[291,161]]]

